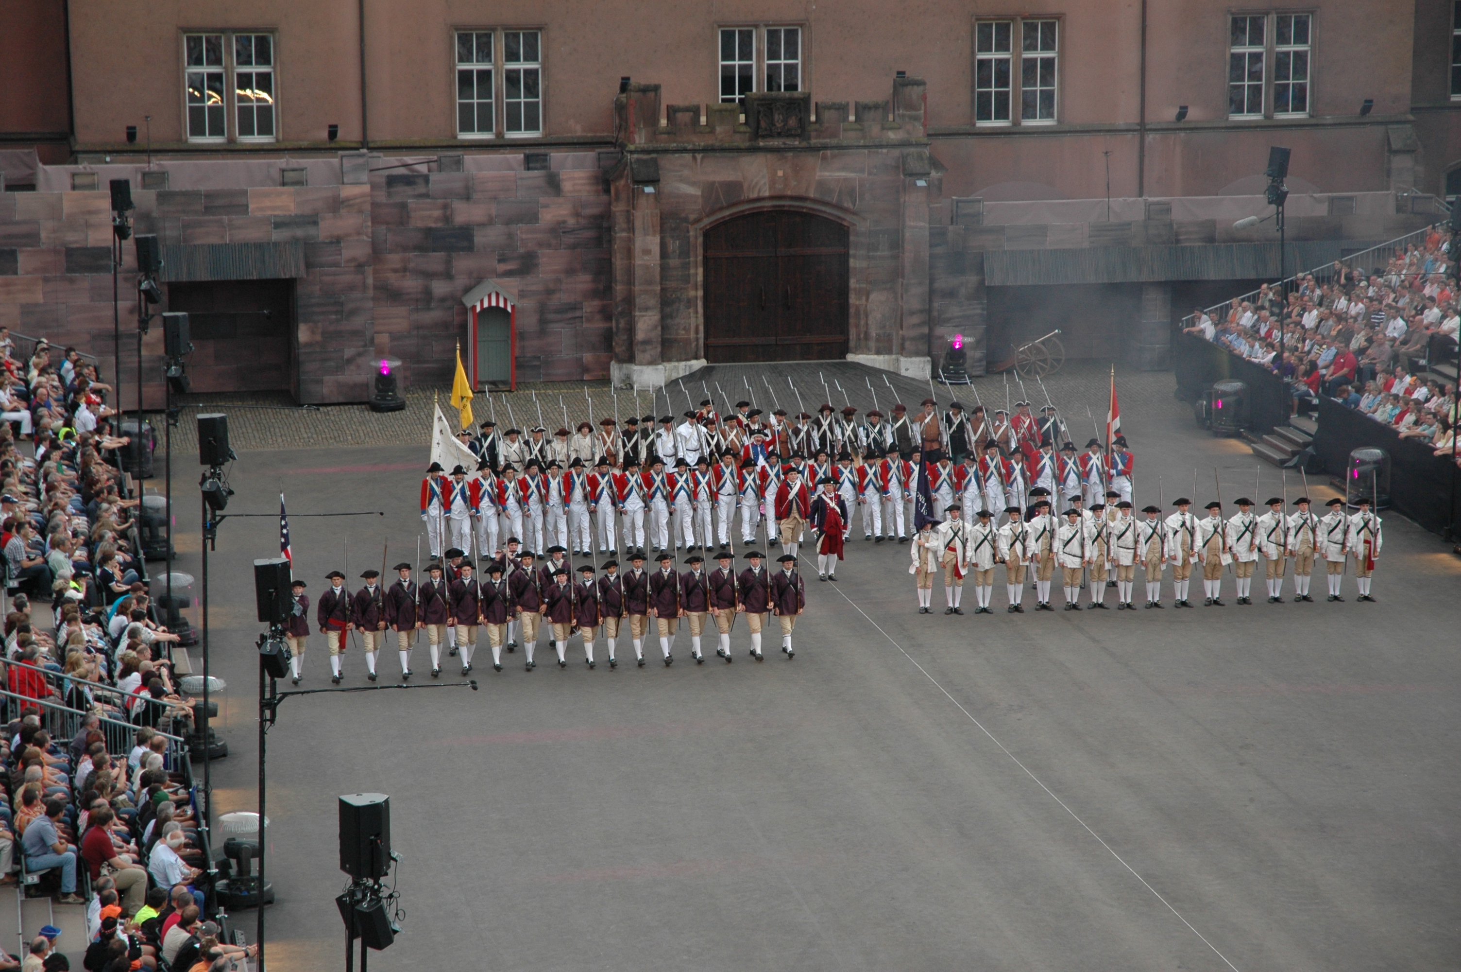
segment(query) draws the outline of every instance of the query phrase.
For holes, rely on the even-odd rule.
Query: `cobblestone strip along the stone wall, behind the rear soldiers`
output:
[[[1048,390],[1050,400],[1067,417],[1072,437],[1084,438],[1088,424],[1087,408],[1105,427],[1109,383],[1109,362],[1069,361],[1045,381],[1045,389],[1036,383],[1026,383],[1021,389],[1014,376],[1010,376],[1008,384],[1004,376],[986,376],[974,379],[967,387],[937,386],[935,398],[939,406],[948,405],[951,396],[964,402],[966,408],[974,400],[982,400],[991,409],[1004,408],[1007,400],[1012,403],[1021,398],[1039,406],[1045,403]],[[1124,403],[1153,405],[1172,402],[1175,384],[1170,371],[1135,371],[1116,365],[1116,387]],[[729,411],[729,406],[742,398],[758,408],[779,403],[790,411],[798,403],[799,392],[801,405],[809,412],[815,412],[817,406],[830,398],[837,408],[852,402],[862,412],[877,402],[887,414],[894,402],[903,402],[910,412],[916,412],[918,403],[929,395],[929,384],[847,361],[709,365],[682,381],[674,381],[666,389],[653,392],[647,389],[611,392],[606,381],[520,384],[519,390],[511,393],[478,393],[472,408],[476,421],[495,417],[501,428],[507,428],[508,422],[527,428],[538,424],[541,414],[542,424],[555,430],[564,424],[565,411],[570,428],[584,418],[598,424],[605,415],[615,414],[621,421],[631,414],[663,415],[666,409],[678,417],[687,408],[687,396],[690,402],[698,403],[706,398],[706,392],[722,411]],[[412,443],[428,446],[432,399],[440,400],[443,411],[451,418],[450,387],[413,389],[405,398],[403,411],[378,414],[365,405],[298,406],[286,393],[190,395],[178,427],[172,430],[172,444],[181,453],[197,452],[197,415],[224,412],[228,415],[228,436],[235,452]],[[159,418],[152,421],[161,422]],[[159,449],[161,446],[159,434]]]

